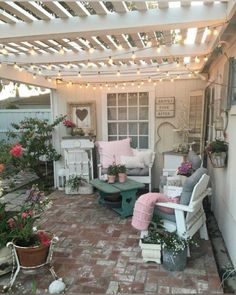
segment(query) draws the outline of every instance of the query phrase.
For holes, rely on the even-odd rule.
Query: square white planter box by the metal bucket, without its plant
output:
[[[139,243],[142,249],[143,261],[154,261],[158,264],[161,263],[161,244],[146,244],[140,240]]]

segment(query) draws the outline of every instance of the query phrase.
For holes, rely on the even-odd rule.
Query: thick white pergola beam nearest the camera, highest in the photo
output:
[[[126,13],[90,15],[35,20],[31,23],[1,24],[0,43],[134,33],[145,31],[216,26],[226,21],[227,4],[177,7],[159,10],[130,11]]]

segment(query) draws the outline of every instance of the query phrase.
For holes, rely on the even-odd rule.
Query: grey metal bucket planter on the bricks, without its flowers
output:
[[[182,271],[187,263],[187,247],[174,255],[173,251],[164,248],[162,251],[163,267],[169,271]]]

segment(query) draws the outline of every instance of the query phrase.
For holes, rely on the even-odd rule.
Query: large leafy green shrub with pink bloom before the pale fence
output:
[[[60,116],[53,123],[38,118],[25,118],[19,124],[13,123],[16,131],[10,131],[8,137],[15,139],[10,153],[14,166],[20,169],[30,168],[39,178],[45,174],[45,163],[57,161],[61,155],[52,144],[52,133],[65,116]]]

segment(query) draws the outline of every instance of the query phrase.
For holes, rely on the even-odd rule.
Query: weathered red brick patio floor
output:
[[[223,293],[210,241],[200,241],[191,251],[183,272],[169,272],[142,261],[139,232],[132,228],[131,218],[121,219],[98,205],[96,194],[57,191],[52,198],[53,206],[41,224],[60,239],[53,264],[66,283],[66,294]],[[37,275],[21,272],[12,292],[45,294],[52,280],[47,269]]]

